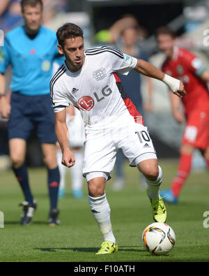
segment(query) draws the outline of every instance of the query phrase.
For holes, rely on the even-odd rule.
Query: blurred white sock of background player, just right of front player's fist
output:
[[[84,164],[84,150],[73,150],[75,156],[75,165],[70,168],[71,187],[72,190],[82,189],[83,187],[83,164]]]

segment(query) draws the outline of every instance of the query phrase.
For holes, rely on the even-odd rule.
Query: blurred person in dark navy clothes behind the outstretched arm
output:
[[[136,57],[137,59],[144,59],[148,61],[148,55],[146,52],[141,50],[140,47],[140,31],[138,25],[127,27],[124,26],[123,31],[121,32],[121,44],[118,47],[127,55],[132,57]],[[146,85],[148,96],[143,103],[142,95],[141,95],[141,75],[136,71],[132,70],[126,75],[119,74],[121,78],[121,82],[123,83],[123,87],[125,92],[128,92],[128,96],[136,106],[137,111],[144,117],[144,112],[150,112],[152,110],[152,99],[153,99],[153,81],[151,78],[146,77]],[[116,180],[114,181],[112,187],[114,190],[122,189],[125,185],[125,175],[123,173],[123,163],[125,161],[124,154],[121,149],[117,152],[116,157]],[[144,177],[141,177],[141,187],[146,187],[146,183],[144,182]]]

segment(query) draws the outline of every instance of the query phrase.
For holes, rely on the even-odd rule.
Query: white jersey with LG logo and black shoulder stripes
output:
[[[127,75],[137,65],[137,59],[109,46],[84,50],[84,55],[79,71],[70,72],[64,62],[54,74],[50,82],[54,112],[72,104],[80,110],[87,129],[107,127],[118,117],[132,117],[142,123],[116,74]]]

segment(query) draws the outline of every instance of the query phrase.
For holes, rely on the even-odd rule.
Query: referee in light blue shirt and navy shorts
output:
[[[29,187],[25,164],[26,140],[32,129],[40,140],[48,173],[50,198],[49,224],[60,224],[57,198],[59,191],[59,168],[56,161],[56,135],[54,115],[50,105],[49,80],[52,63],[59,56],[54,31],[41,26],[42,1],[22,0],[24,26],[6,34],[0,61],[1,116],[9,118],[8,139],[13,171],[24,194],[20,224],[31,222],[36,210],[36,200]],[[12,66],[10,103],[6,99],[6,68]],[[36,152],[34,152],[36,154]]]

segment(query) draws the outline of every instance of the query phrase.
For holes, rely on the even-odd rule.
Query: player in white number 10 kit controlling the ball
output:
[[[96,254],[111,254],[118,251],[118,245],[111,228],[105,185],[114,168],[118,148],[123,150],[130,166],[137,166],[146,178],[153,219],[159,222],[167,219],[167,210],[159,193],[162,169],[143,118],[123,91],[117,72],[127,74],[134,69],[162,80],[178,96],[184,96],[185,90],[180,80],[169,77],[142,59],[107,46],[84,50],[83,31],[75,24],[64,24],[56,36],[59,53],[65,56],[65,62],[52,78],[50,91],[56,136],[63,153],[62,164],[71,167],[76,161],[69,147],[65,123],[65,109],[72,104],[84,119],[83,175],[88,182],[91,212],[104,240]]]

